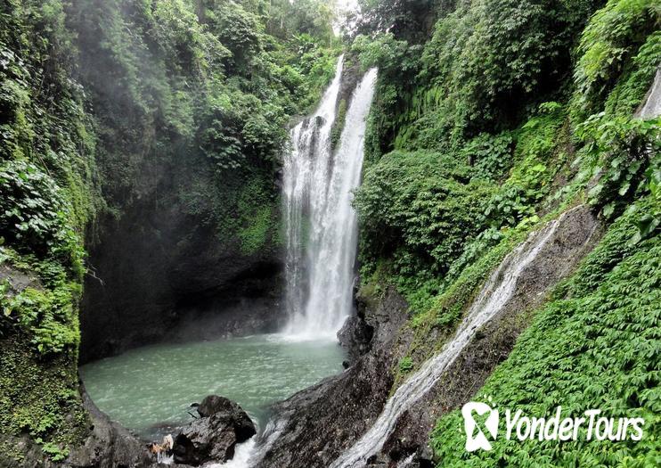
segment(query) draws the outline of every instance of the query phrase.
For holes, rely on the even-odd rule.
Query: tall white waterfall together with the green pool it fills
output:
[[[100,409],[144,438],[175,431],[189,419],[190,403],[207,394],[232,398],[264,427],[268,406],[339,372],[343,356],[336,335],[351,313],[355,277],[357,222],[350,196],[360,178],[376,70],[350,94],[347,125],[333,150],[341,56],[336,70],[319,109],[292,129],[292,149],[285,155],[289,319],[282,331],[152,346],[81,367],[86,390]],[[308,239],[302,238],[304,219]]]

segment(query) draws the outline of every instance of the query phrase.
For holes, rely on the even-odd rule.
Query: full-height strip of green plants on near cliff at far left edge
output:
[[[64,22],[59,2],[0,7],[0,425],[43,443],[54,460],[86,431],[77,376],[82,235],[103,205]],[[16,272],[30,278],[24,289],[6,278]]]

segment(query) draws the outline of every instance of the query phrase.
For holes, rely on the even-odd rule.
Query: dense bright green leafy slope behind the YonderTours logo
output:
[[[654,466],[659,423],[658,301],[661,238],[632,244],[650,201],[632,205],[611,226],[583,265],[535,314],[508,360],[479,390],[494,407],[527,415],[583,415],[599,408],[608,417],[643,417],[646,437],[632,440],[507,440],[475,455],[463,449],[461,415],[441,418],[432,435],[443,466]],[[582,439],[586,437],[583,428]]]

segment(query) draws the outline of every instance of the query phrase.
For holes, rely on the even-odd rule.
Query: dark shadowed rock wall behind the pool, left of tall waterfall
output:
[[[187,169],[162,170],[151,193],[129,201],[118,219],[99,221],[80,316],[81,363],[166,338],[273,330],[281,317],[278,246],[244,254],[236,238],[185,211],[179,193],[191,190]],[[205,326],[191,326],[195,320]]]

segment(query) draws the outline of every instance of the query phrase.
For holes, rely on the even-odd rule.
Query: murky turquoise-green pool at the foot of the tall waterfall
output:
[[[260,427],[268,407],[342,370],[336,341],[259,335],[161,344],[80,367],[96,406],[146,439],[192,420],[193,402],[216,394],[236,401]]]

